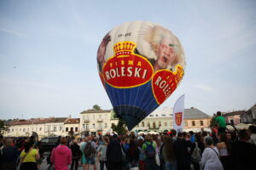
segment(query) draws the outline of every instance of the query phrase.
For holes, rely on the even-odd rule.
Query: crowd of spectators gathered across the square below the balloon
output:
[[[256,167],[256,127],[229,132],[216,118],[212,133],[106,134],[83,139],[60,137],[46,158],[49,169],[84,170],[96,161],[108,170],[230,170]],[[222,127],[219,127],[219,123]],[[1,136],[1,169],[40,169],[44,151],[31,138],[25,141]],[[18,158],[18,159],[17,159]],[[19,160],[19,161],[17,161]],[[69,166],[71,165],[71,166]]]

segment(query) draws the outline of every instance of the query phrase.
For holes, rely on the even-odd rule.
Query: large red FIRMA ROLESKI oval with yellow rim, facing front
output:
[[[151,79],[153,67],[139,55],[122,54],[108,59],[103,74],[105,81],[115,88],[133,88]]]

